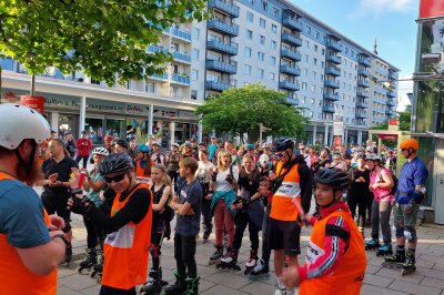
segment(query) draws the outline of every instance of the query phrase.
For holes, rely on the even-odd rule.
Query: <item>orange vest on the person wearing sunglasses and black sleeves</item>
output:
[[[131,195],[140,189],[149,190],[149,185],[145,183],[139,184],[124,201],[119,201],[120,194],[118,194],[112,203],[111,216],[123,208]],[[103,285],[130,289],[147,282],[151,222],[152,197],[148,213],[140,223],[130,222],[119,231],[107,235],[103,245]]]

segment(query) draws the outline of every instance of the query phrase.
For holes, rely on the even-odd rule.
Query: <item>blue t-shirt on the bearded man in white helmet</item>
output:
[[[17,248],[51,242],[44,210],[34,190],[17,180],[0,181],[0,233]]]

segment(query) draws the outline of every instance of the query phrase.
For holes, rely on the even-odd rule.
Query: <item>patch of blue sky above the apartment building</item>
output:
[[[290,0],[302,10],[401,69],[400,79],[414,72],[418,0]],[[400,82],[398,94],[412,92]]]

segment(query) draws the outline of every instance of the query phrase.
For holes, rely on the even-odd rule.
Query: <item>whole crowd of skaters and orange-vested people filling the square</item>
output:
[[[201,222],[204,243],[214,232],[209,261],[216,267],[241,268],[246,227],[245,274],[269,274],[273,251],[278,295],[297,286],[300,294],[359,294],[365,250],[384,255],[383,265],[415,269],[416,213],[427,170],[414,139],[400,145],[407,161],[397,180],[396,153],[381,155],[373,145],[332,152],[290,138],[235,146],[211,136],[173,143],[164,152],[153,139],[138,145],[135,138],[107,135],[104,146],[92,148],[88,132],[77,141],[70,132],[63,141],[54,139],[44,118],[26,106],[2,104],[0,116],[14,128],[10,133],[8,124],[0,126],[0,251],[8,254],[1,258],[0,285],[8,294],[56,293],[57,265],[71,256],[71,213],[83,216],[88,234],[79,273],[97,273],[100,294],[135,294],[138,285],[142,294],[198,294]],[[32,185],[43,186],[41,196]],[[316,206],[309,215],[312,197]],[[366,223],[371,240],[365,242]],[[299,265],[304,225],[313,232]],[[176,279],[164,287],[161,248],[171,237]]]

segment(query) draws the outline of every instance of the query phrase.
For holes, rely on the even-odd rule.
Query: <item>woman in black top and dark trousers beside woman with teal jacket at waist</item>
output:
[[[243,169],[239,173],[238,197],[231,204],[232,210],[236,210],[235,234],[233,248],[226,257],[221,258],[222,268],[234,268],[240,271],[238,254],[241,248],[243,233],[249,226],[251,251],[250,258],[245,263],[245,274],[249,274],[258,263],[259,231],[262,227],[263,205],[261,193],[259,192],[260,174],[254,169],[254,157],[246,154],[242,159]]]

